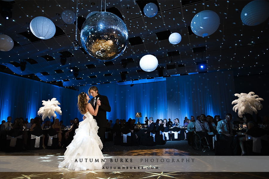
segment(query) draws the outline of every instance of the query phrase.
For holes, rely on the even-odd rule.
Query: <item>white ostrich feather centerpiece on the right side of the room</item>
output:
[[[238,110],[238,116],[243,117],[244,113],[257,114],[257,110],[262,109],[261,101],[264,101],[262,98],[259,98],[258,95],[254,95],[254,92],[247,93],[236,93],[235,96],[238,99],[234,100],[232,104],[236,104],[233,107],[234,112]]]

